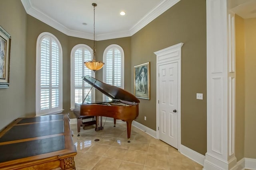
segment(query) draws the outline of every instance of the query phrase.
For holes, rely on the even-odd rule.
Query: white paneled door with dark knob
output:
[[[178,63],[159,65],[159,139],[178,149]]]

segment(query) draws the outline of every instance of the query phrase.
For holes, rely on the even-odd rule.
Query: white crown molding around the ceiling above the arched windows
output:
[[[96,35],[95,40],[100,41],[100,40],[106,40],[106,39],[130,37],[130,36],[134,35],[136,32],[138,32],[140,29],[142,29],[144,26],[146,26],[148,23],[153,21],[155,18],[160,16],[166,10],[168,10],[169,8],[174,6],[179,1],[180,0],[163,0],[160,4],[158,4],[158,6],[153,8],[140,21],[138,21],[130,30]],[[93,40],[93,34],[70,30],[67,27],[65,27],[64,25],[62,25],[61,23],[59,23],[58,21],[50,18],[46,14],[43,14],[37,8],[34,8],[32,6],[31,0],[21,0],[21,2],[23,4],[27,14],[29,14],[30,16],[57,29],[58,31],[60,31],[68,36]]]

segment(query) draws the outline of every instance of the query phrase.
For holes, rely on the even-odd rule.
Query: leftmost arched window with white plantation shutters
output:
[[[62,47],[51,33],[36,43],[36,115],[62,112]]]

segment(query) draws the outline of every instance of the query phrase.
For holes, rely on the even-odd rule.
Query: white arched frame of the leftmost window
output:
[[[50,39],[54,39],[54,41],[56,41],[56,43],[58,44],[58,48],[59,48],[59,69],[58,69],[59,71],[59,88],[58,88],[59,89],[59,106],[56,108],[45,109],[42,111],[40,108],[40,105],[41,105],[41,100],[40,100],[41,98],[41,94],[40,94],[40,91],[41,91],[41,42],[46,37],[49,37]],[[62,57],[63,57],[62,46],[58,38],[49,32],[40,33],[36,41],[36,116],[61,113],[64,110],[63,109]],[[52,59],[52,56],[51,56],[51,59]]]

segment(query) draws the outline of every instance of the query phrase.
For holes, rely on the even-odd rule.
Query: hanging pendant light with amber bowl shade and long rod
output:
[[[95,49],[95,6],[97,6],[97,4],[92,3],[92,6],[93,6],[93,11],[94,11],[92,61],[85,61],[84,65],[87,68],[89,68],[90,70],[93,70],[95,72],[96,70],[100,70],[104,66],[104,63],[102,61],[96,61],[96,59],[95,59],[95,55],[96,55],[96,49]]]

